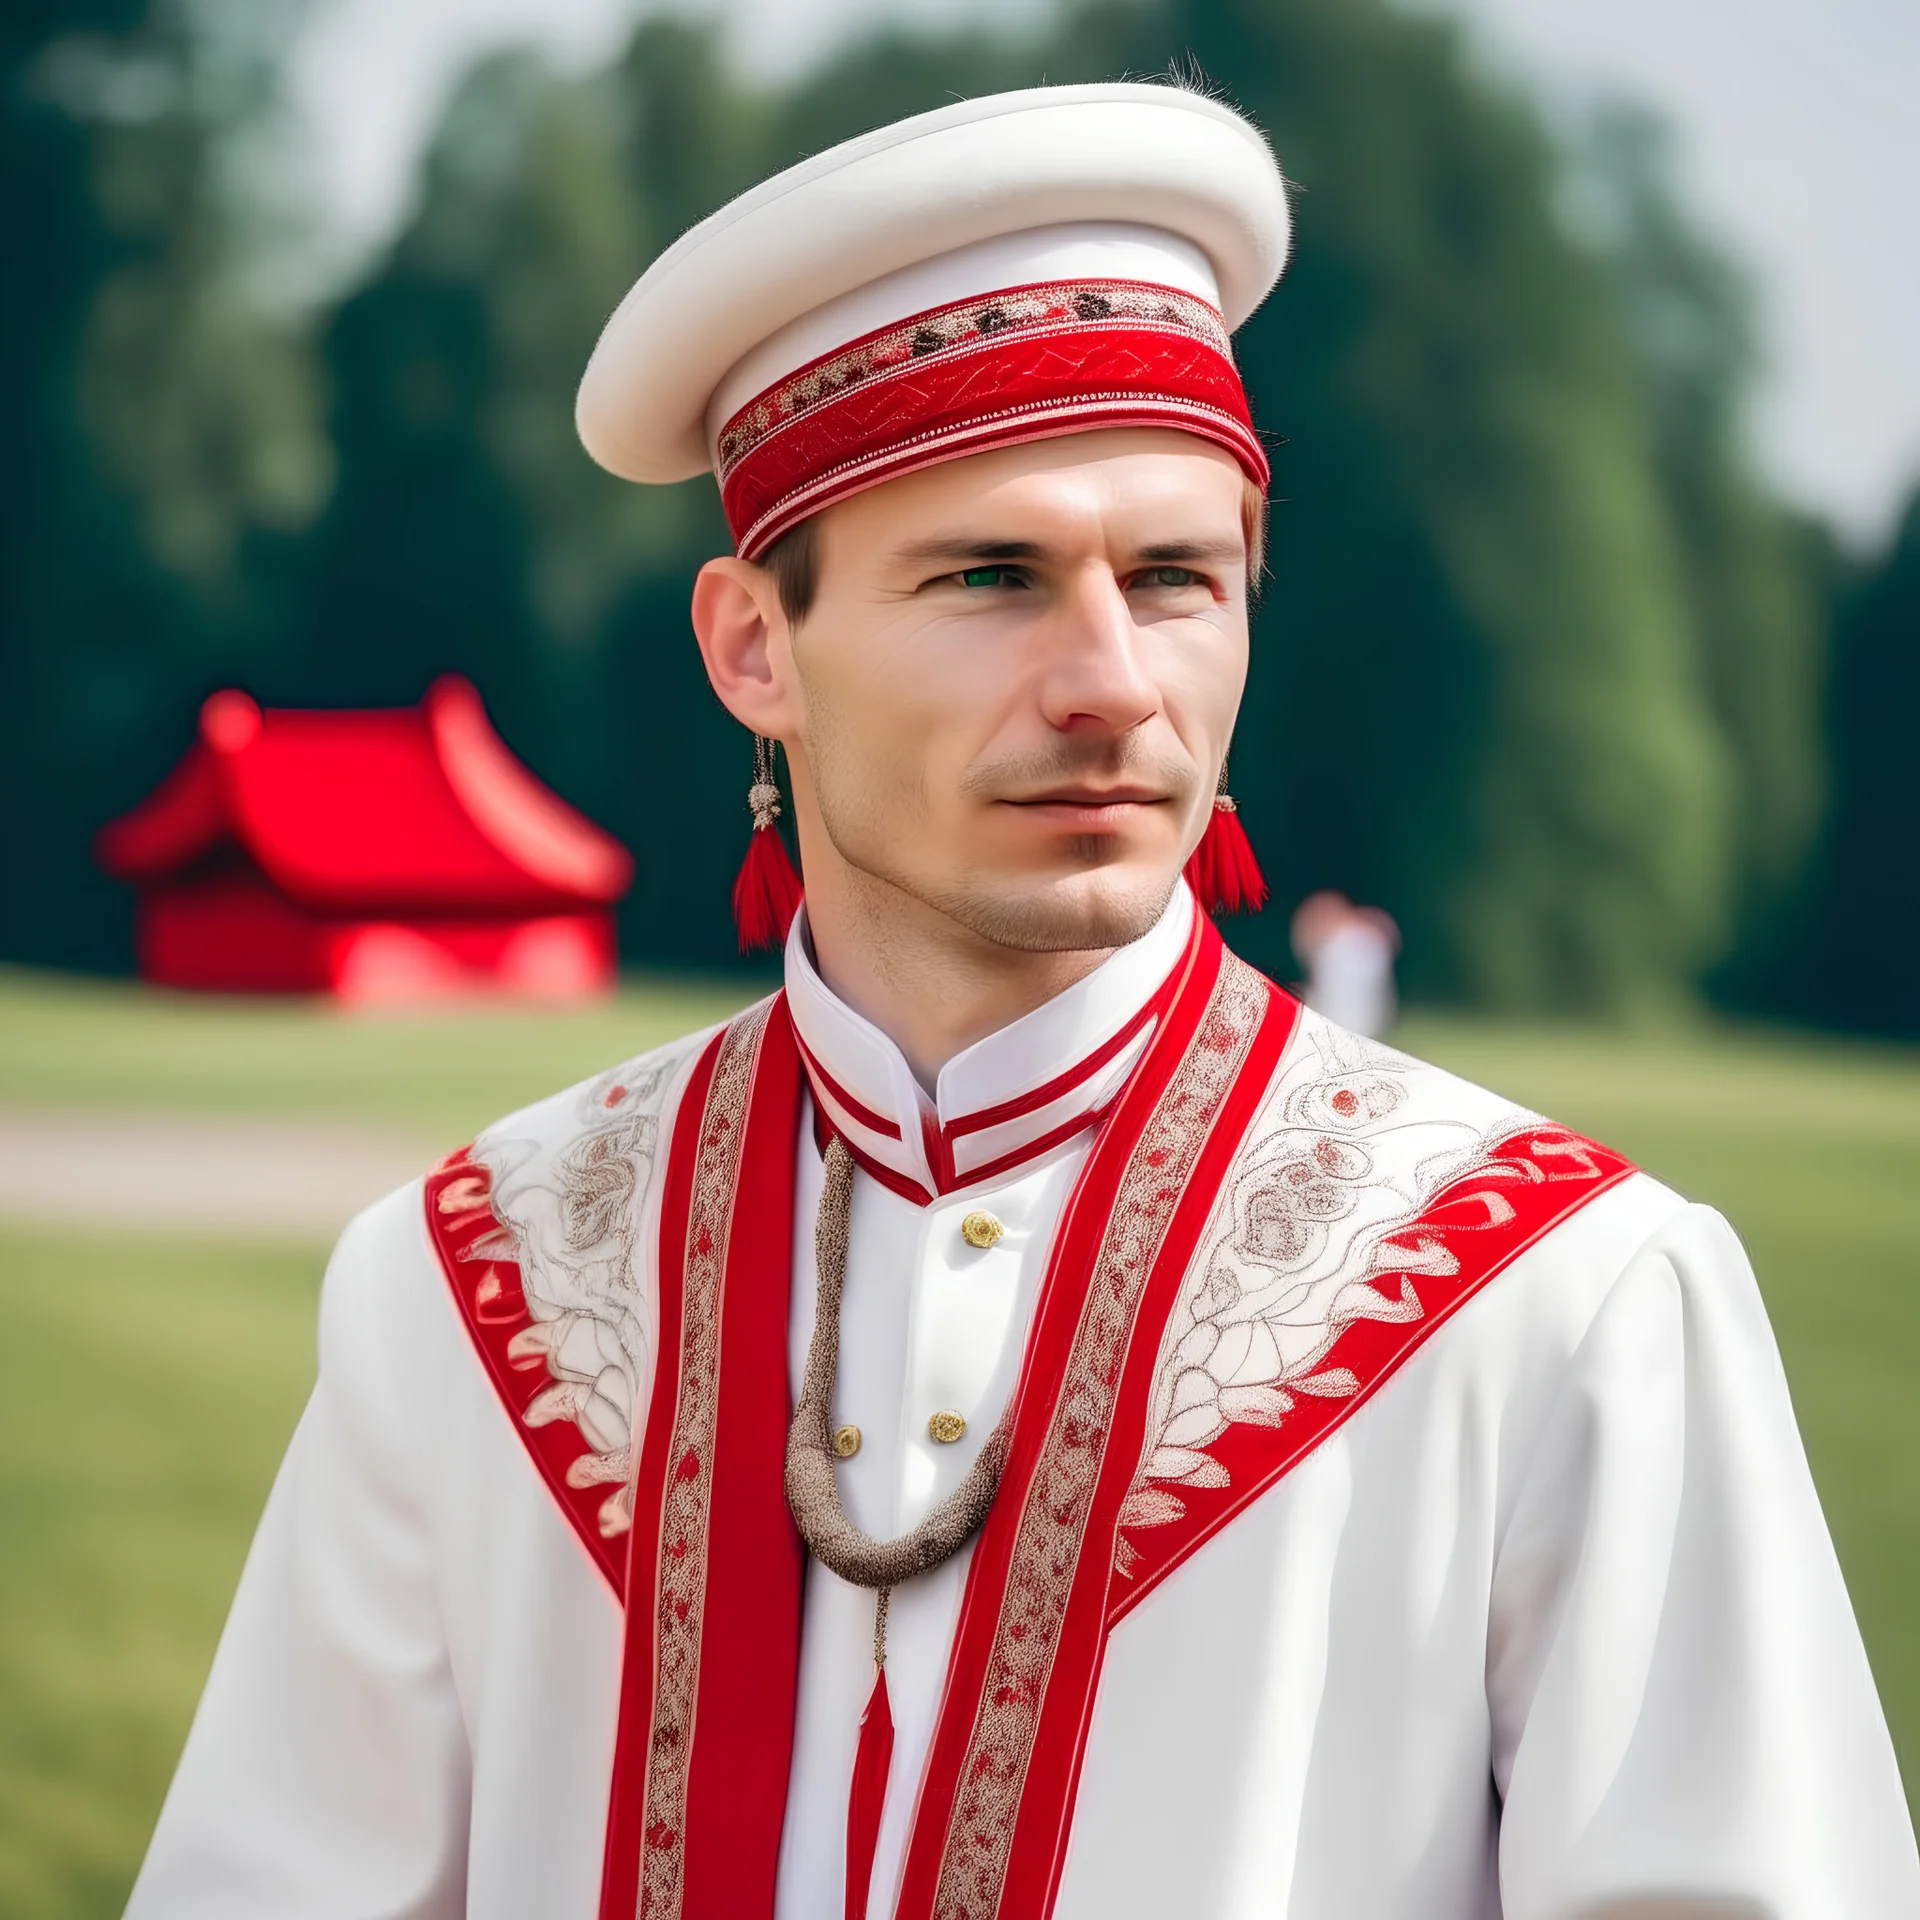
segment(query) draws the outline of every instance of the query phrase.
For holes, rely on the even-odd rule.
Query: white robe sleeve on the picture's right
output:
[[[1747,1258],[1682,1208],[1569,1361],[1494,1569],[1505,1920],[1914,1920],[1893,1745]]]

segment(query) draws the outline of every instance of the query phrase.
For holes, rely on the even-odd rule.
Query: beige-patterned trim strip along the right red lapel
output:
[[[1213,996],[1127,1162],[1073,1334],[1060,1407],[1020,1515],[979,1713],[947,1822],[937,1920],[998,1910],[1027,1759],[1068,1611],[1140,1294],[1219,1102],[1246,1060],[1267,983],[1223,956]]]

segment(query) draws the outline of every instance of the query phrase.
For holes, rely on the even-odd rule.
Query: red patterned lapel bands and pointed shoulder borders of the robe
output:
[[[1229,1467],[1219,1484],[1162,1498],[1142,1530],[1127,1501],[1162,1332],[1296,1018],[1202,918],[1054,1240],[920,1780],[900,1920],[1044,1920],[1114,1622],[1519,1252],[1632,1171],[1557,1127],[1503,1142],[1492,1165],[1392,1236],[1409,1271],[1377,1281],[1400,1283],[1405,1311],[1340,1336],[1352,1384],[1302,1402],[1279,1427],[1231,1427],[1210,1450]],[[624,1580],[609,1571],[628,1630],[603,1920],[751,1920],[774,1908],[804,1559],[781,1492],[799,1106],[799,1044],[776,996],[708,1044],[674,1125],[660,1359]],[[461,1208],[445,1208],[449,1194]],[[476,1244],[492,1225],[476,1213],[484,1194],[484,1171],[455,1156],[430,1183],[428,1219],[482,1356],[520,1413],[528,1390],[493,1359],[518,1284],[492,1281],[482,1311],[472,1260],[459,1229],[447,1231],[470,1219],[465,1244]],[[1436,1238],[1469,1229],[1461,1258],[1430,1258]],[[528,1444],[605,1565],[597,1528],[564,1500],[564,1442],[538,1440],[551,1432],[532,1430]]]

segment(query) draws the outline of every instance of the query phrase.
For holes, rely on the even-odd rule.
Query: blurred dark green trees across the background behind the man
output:
[[[1884,977],[1849,958],[1862,916],[1914,914],[1916,522],[1862,572],[1755,482],[1747,296],[1645,117],[1557,148],[1382,0],[1098,0],[1016,38],[868,40],[781,88],[653,21],[589,79],[468,75],[405,230],[309,313],[275,298],[244,163],[292,19],[42,0],[0,29],[23,265],[0,954],[125,964],[88,835],[211,687],[390,703],[459,666],[639,852],[626,954],[730,964],[747,753],[685,632],[724,526],[705,482],[622,488],[578,451],[599,323],[804,152],[1190,58],[1298,184],[1296,263],[1240,336],[1281,445],[1235,789],[1281,902],[1388,906],[1417,998],[1636,1010],[1705,983],[1920,1031],[1910,947]],[[1283,922],[1236,945],[1284,970]]]

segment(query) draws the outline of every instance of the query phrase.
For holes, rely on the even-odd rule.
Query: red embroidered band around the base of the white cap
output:
[[[808,361],[720,430],[743,559],[881,480],[1096,426],[1177,426],[1267,486],[1227,324],[1192,294],[1056,280],[933,307]]]

